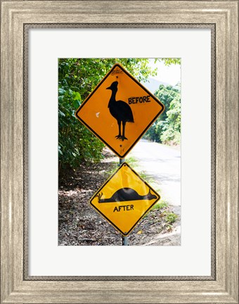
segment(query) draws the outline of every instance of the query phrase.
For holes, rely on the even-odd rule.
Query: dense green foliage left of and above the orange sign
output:
[[[104,144],[77,118],[75,110],[115,63],[121,63],[138,81],[155,71],[147,58],[60,58],[58,60],[58,160],[59,171],[102,158]]]

